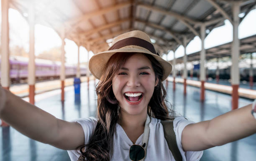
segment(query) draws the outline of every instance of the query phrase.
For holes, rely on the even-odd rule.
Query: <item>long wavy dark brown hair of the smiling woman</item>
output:
[[[115,99],[112,90],[112,79],[124,63],[135,53],[115,53],[108,60],[105,74],[100,78],[96,87],[97,92],[97,126],[90,137],[88,144],[80,146],[79,152],[87,161],[110,161],[113,154],[113,135],[118,122],[118,101]],[[166,106],[166,90],[161,78],[163,76],[163,67],[151,55],[145,55],[152,64],[156,80],[159,79],[154,93],[148,103],[148,115],[160,120],[170,119],[174,113]],[[82,150],[84,149],[84,150]]]

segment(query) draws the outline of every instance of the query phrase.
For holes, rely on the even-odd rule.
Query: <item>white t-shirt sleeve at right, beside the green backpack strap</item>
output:
[[[176,134],[177,146],[182,154],[183,161],[199,161],[203,151],[184,151],[182,148],[182,131],[184,127],[190,123],[195,122],[186,120],[184,117],[177,117],[174,119],[173,126]]]

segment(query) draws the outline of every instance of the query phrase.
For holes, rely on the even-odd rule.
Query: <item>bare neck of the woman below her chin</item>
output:
[[[123,128],[140,128],[145,126],[145,122],[147,119],[147,113],[143,113],[140,115],[129,115],[122,110],[120,110],[120,116],[118,123]]]

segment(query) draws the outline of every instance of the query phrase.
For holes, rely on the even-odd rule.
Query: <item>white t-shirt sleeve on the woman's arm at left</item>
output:
[[[84,144],[89,143],[90,137],[97,126],[97,119],[94,117],[89,118],[79,118],[77,120],[73,120],[72,122],[77,122],[82,126],[84,131]],[[71,161],[77,161],[80,154],[77,153],[77,150],[67,151]]]

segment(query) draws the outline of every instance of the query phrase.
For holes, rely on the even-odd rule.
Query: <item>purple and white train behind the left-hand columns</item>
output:
[[[10,81],[11,83],[24,83],[28,79],[28,58],[21,56],[10,56]],[[1,64],[1,58],[0,58]],[[61,62],[35,59],[36,81],[54,80],[60,77]],[[1,71],[0,71],[1,73]],[[65,65],[66,78],[75,77],[77,73],[76,65]],[[87,67],[80,65],[81,76],[86,75]]]

